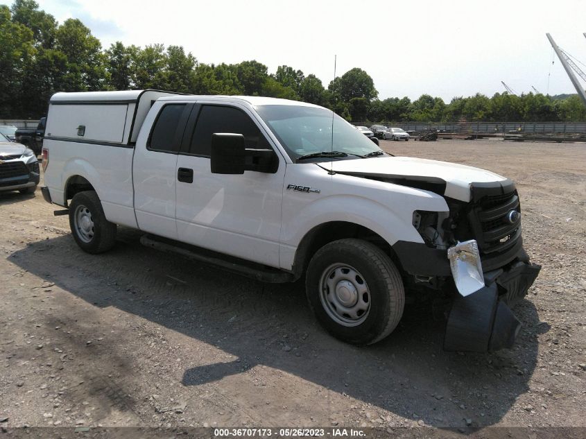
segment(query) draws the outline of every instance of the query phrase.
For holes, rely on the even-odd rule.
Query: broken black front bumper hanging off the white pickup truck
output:
[[[411,275],[454,278],[446,250],[405,241],[399,241],[393,249],[404,270]],[[515,343],[521,323],[510,306],[525,297],[541,266],[529,261],[521,239],[514,251],[502,255],[506,259],[500,259],[501,268],[494,267],[497,265],[494,259],[488,264],[481,261],[485,271],[480,272],[481,279],[474,279],[475,292],[468,290],[464,296],[455,291],[446,325],[445,350],[486,352],[512,347]]]

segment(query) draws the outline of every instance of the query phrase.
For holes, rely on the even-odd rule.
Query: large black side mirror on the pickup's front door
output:
[[[275,173],[279,167],[272,149],[250,149],[244,136],[227,132],[212,134],[210,168],[214,174],[243,174],[244,171]]]

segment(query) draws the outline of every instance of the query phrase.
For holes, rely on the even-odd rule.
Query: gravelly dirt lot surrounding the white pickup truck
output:
[[[381,142],[518,184],[542,272],[512,350],[442,351],[406,309],[385,341],[336,341],[302,284],[142,247],[82,252],[40,191],[0,195],[0,421],[17,426],[586,426],[586,144]],[[5,420],[5,418],[8,418]],[[530,436],[531,437],[531,436]]]

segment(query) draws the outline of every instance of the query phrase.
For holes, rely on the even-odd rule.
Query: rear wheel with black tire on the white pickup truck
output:
[[[88,253],[110,250],[116,241],[117,226],[107,221],[95,191],[75,194],[69,205],[69,227],[78,246]]]

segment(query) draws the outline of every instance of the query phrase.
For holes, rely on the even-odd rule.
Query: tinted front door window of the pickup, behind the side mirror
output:
[[[266,137],[245,112],[233,107],[204,105],[191,137],[189,153],[209,157],[212,150],[212,134],[215,132],[244,135],[246,148],[270,148]]]

